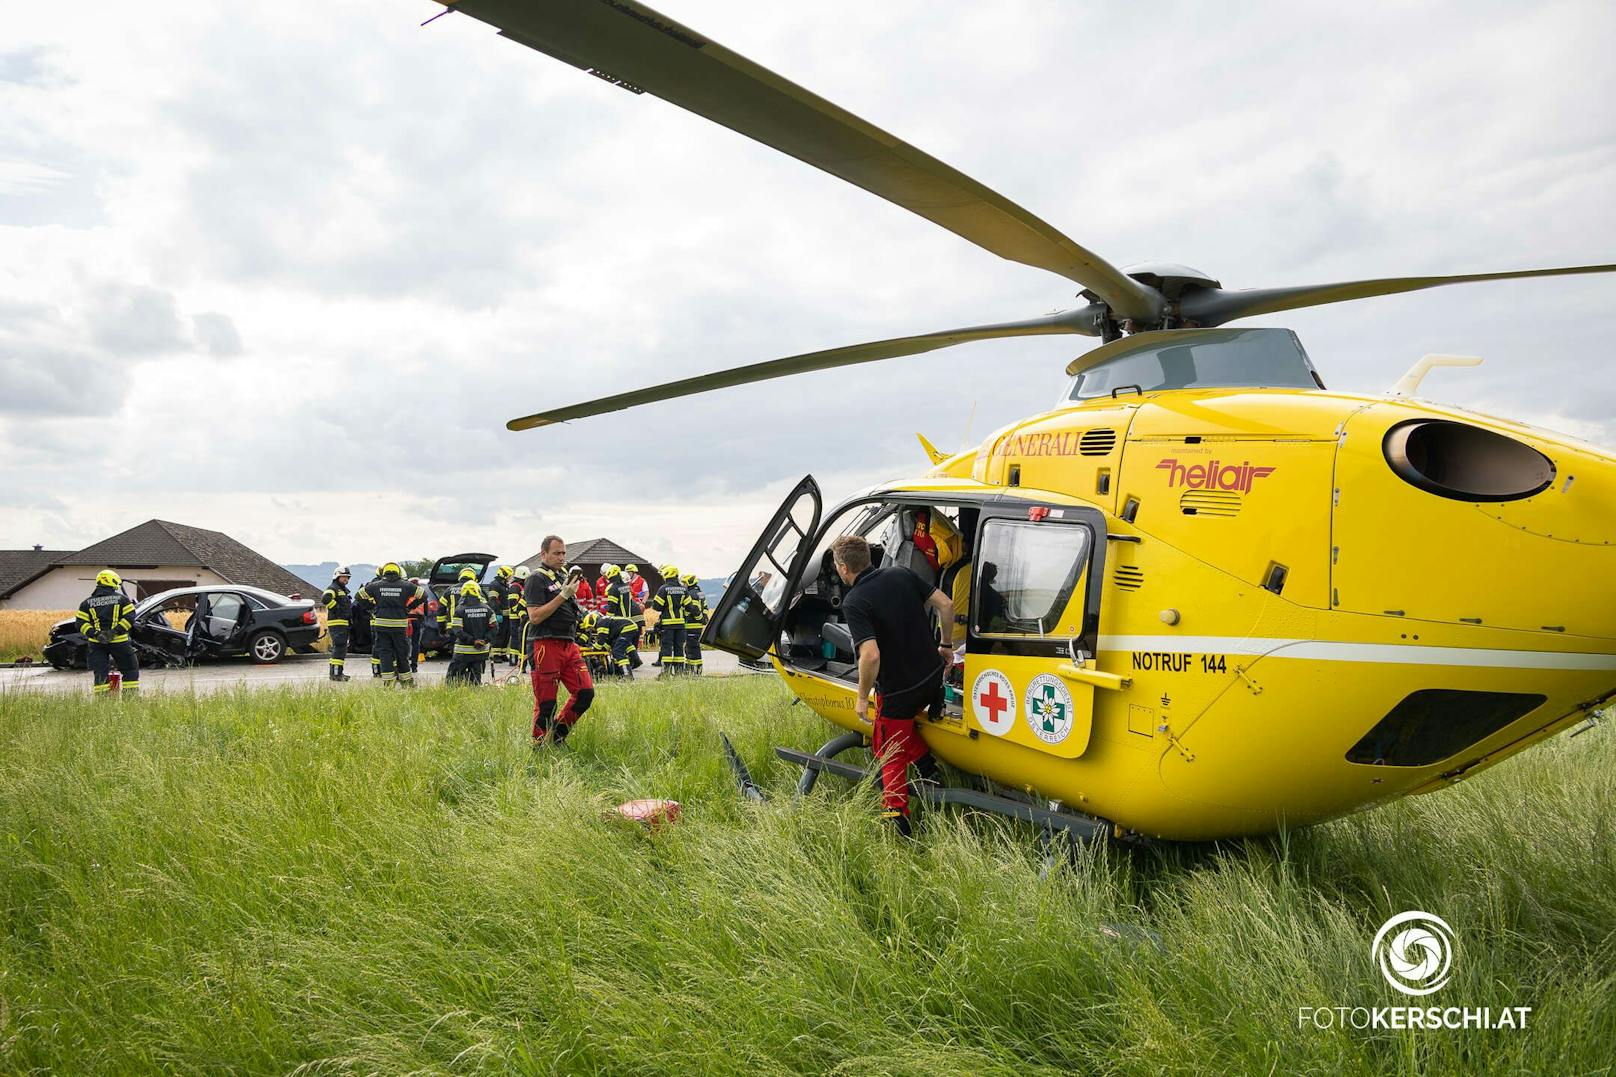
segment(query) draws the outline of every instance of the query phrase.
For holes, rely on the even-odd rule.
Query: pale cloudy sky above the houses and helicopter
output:
[[[661,0],[1113,264],[1227,286],[1616,262],[1616,6]],[[0,44],[0,547],[152,516],[280,561],[606,534],[732,571],[1047,406],[1084,338],[619,412],[545,406],[1075,306],[1052,275],[430,0],[13,5]],[[1149,13],[1146,18],[1144,13]],[[1332,388],[1616,443],[1616,277],[1283,320]]]

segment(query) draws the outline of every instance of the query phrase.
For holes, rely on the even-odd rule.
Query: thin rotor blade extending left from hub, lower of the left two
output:
[[[771,378],[784,378],[792,374],[806,374],[810,370],[852,367],[860,362],[876,362],[877,359],[918,356],[923,351],[937,351],[939,348],[952,348],[953,344],[968,344],[976,340],[995,340],[1000,336],[1049,336],[1058,333],[1094,336],[1097,333],[1094,320],[1100,314],[1104,314],[1104,310],[1099,306],[1088,306],[1076,310],[1062,310],[1060,314],[1050,314],[1042,319],[1028,319],[1026,322],[974,325],[970,328],[942,330],[941,333],[895,336],[892,340],[877,340],[868,344],[848,344],[845,348],[810,351],[802,356],[787,356],[785,359],[753,362],[730,370],[700,374],[693,378],[666,382],[663,385],[633,390],[632,393],[603,396],[601,399],[591,399],[569,408],[540,411],[532,416],[512,419],[506,424],[506,427],[511,430],[532,430],[535,427],[548,427],[570,419],[585,419],[588,416],[603,416],[609,411],[622,411],[624,408],[637,408],[638,404],[654,404],[656,401],[674,399],[677,396],[693,396],[695,393],[706,393],[716,388],[729,388],[730,385],[768,382]]]

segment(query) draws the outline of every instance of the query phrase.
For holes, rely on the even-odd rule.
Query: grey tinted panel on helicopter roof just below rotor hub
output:
[[[1067,399],[1092,399],[1134,388],[1149,393],[1231,386],[1324,388],[1296,333],[1252,328],[1186,335],[1181,341],[1155,340],[1123,351],[1078,374]]]

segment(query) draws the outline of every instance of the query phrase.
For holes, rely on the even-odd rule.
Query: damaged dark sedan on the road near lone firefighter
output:
[[[247,657],[280,661],[288,650],[309,650],[320,639],[314,603],[260,587],[215,584],[179,587],[134,608],[129,640],[142,666],[189,665],[199,658]],[[73,619],[50,629],[45,661],[82,669],[89,645]]]

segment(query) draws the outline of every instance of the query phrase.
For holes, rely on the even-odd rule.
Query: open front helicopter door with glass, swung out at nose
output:
[[[787,495],[763,529],[763,537],[735,569],[701,634],[703,647],[753,661],[769,653],[781,637],[790,582],[813,555],[819,508],[819,484],[808,475]]]

